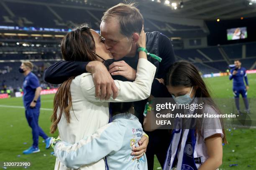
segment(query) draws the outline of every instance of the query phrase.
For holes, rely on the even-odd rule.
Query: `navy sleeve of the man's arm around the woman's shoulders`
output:
[[[61,84],[69,77],[80,75],[86,71],[88,62],[59,61],[48,67],[44,72],[44,81],[51,84]]]

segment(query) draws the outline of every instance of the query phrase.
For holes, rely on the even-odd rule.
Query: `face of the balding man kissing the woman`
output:
[[[100,34],[105,38],[105,47],[110,50],[115,60],[120,60],[131,52],[132,36],[126,37],[120,33],[120,25],[116,19],[102,21]]]

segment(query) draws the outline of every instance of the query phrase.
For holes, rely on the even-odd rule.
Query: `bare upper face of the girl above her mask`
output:
[[[175,97],[189,94],[189,92],[191,92],[191,89],[192,89],[192,87],[185,87],[185,86],[174,87],[172,85],[168,85],[166,87],[169,93],[171,95],[174,95]],[[192,98],[194,95],[195,95],[195,87],[192,89],[192,92],[190,93],[190,97]]]

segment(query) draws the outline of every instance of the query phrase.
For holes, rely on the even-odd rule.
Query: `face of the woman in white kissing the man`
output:
[[[91,31],[92,36],[95,41],[95,53],[97,55],[99,55],[100,57],[102,57],[104,60],[113,58],[111,52],[106,49],[106,47],[104,45],[104,41],[102,40],[100,34],[95,32],[95,30],[90,30],[90,31]],[[101,59],[99,58],[99,60],[101,60]]]

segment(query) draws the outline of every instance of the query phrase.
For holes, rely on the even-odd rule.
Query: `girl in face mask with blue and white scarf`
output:
[[[210,98],[205,82],[197,68],[187,61],[175,62],[169,69],[165,80],[169,93],[177,104],[204,103],[202,109],[184,110],[183,114],[220,114],[220,110]],[[149,111],[144,120],[144,130],[151,131],[155,115]],[[175,114],[175,113],[174,113]],[[176,118],[176,125],[181,120]],[[175,126],[167,151],[164,170],[216,170],[222,164],[222,142],[227,143],[221,119],[196,119],[195,128],[186,129]],[[177,128],[178,127],[178,128]]]

